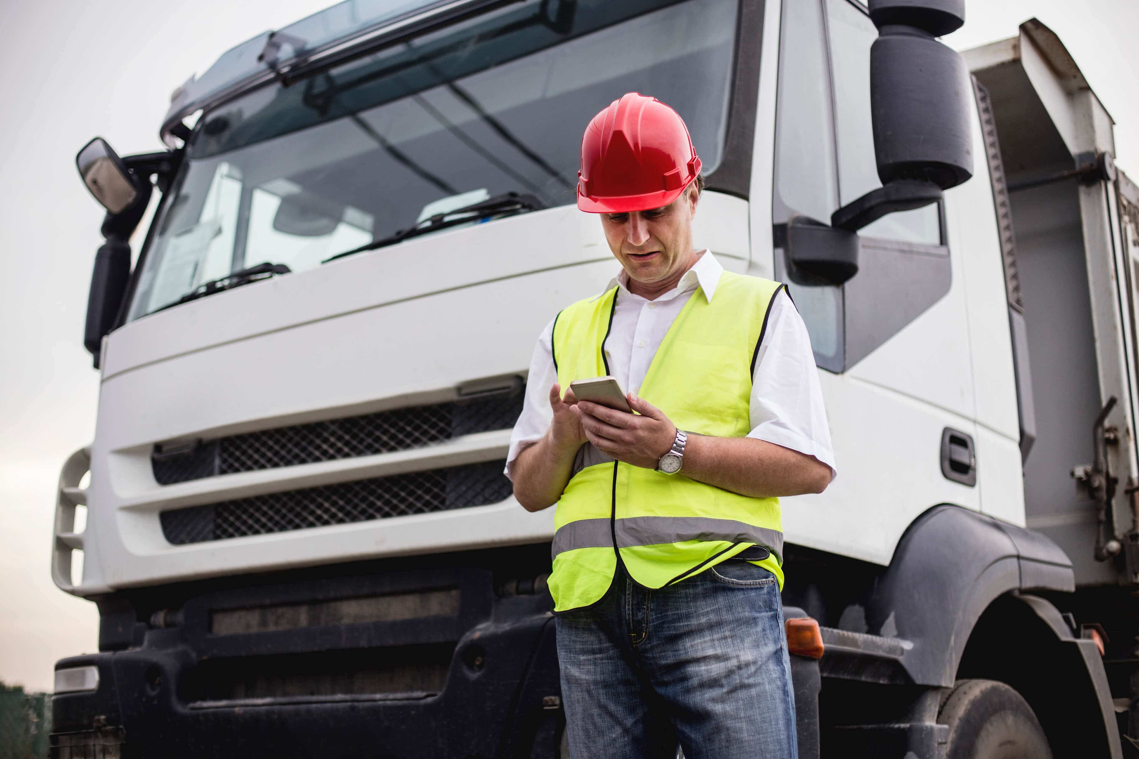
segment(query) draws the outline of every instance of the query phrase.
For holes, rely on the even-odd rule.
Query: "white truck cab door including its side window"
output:
[[[929,506],[981,503],[966,288],[947,207],[861,230],[861,269],[842,286],[796,270],[780,247],[792,215],[826,222],[880,185],[870,121],[876,38],[849,0],[782,3],[771,222],[773,274],[789,283],[811,335],[839,470],[821,496],[790,500],[785,533],[885,564]],[[943,468],[950,452],[962,471]]]

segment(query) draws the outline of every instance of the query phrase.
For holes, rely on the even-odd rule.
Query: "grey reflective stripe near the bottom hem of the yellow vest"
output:
[[[711,517],[630,517],[617,520],[617,544],[657,545],[681,541],[727,541],[755,543],[782,558],[782,533],[755,527],[734,519]],[[551,555],[574,548],[608,548],[613,546],[609,519],[579,519],[554,534]]]

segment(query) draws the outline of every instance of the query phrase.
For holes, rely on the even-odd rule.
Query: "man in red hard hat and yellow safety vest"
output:
[[[557,503],[571,753],[795,757],[778,497],[835,476],[806,328],[784,286],[694,249],[700,159],[671,108],[615,100],[580,176],[622,271],[542,332],[507,461],[523,506]],[[606,374],[636,413],[568,390]]]

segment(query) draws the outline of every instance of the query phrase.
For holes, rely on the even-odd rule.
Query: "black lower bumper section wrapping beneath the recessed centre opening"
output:
[[[546,614],[473,633],[435,695],[190,701],[188,650],[74,657],[57,668],[97,666],[99,688],[52,698],[54,756],[555,757],[564,725],[556,662]]]

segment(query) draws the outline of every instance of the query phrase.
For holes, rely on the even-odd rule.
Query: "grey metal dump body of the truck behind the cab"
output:
[[[1001,100],[1002,137],[1015,138],[1002,140],[1001,150],[1016,173],[1011,206],[1025,254],[1019,273],[1039,424],[1025,463],[1027,522],[1064,545],[1077,584],[1113,583],[1113,563],[1092,559],[1095,504],[1068,477],[1091,463],[1092,423],[1115,397],[1107,459],[1118,486],[1108,531],[1130,528],[1126,489],[1139,472],[1133,271],[1113,183],[1095,171],[1073,172],[1114,154],[1113,122],[1051,30],[1032,19],[1019,32],[966,59]]]

